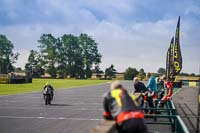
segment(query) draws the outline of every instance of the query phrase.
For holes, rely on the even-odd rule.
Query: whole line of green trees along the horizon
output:
[[[54,37],[52,34],[42,34],[38,40],[38,50],[31,50],[25,72],[32,77],[41,77],[45,73],[51,77],[90,78],[93,73],[105,74],[105,79],[115,78],[117,70],[111,64],[105,71],[99,67],[102,55],[98,51],[98,44],[87,35],[64,34]],[[14,44],[5,35],[0,34],[0,74],[7,74],[15,70],[14,63],[19,53],[14,53]],[[154,76],[165,74],[165,68],[159,68]],[[143,68],[137,70],[128,67],[124,72],[125,79],[135,76],[145,78]],[[181,76],[198,76],[194,73],[180,73]]]

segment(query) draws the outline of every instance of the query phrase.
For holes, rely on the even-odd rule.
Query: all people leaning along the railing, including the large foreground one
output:
[[[103,116],[116,121],[119,133],[147,133],[141,108],[145,108],[145,113],[155,114],[156,110],[147,108],[162,108],[172,95],[172,82],[166,77],[155,79],[151,73],[147,73],[146,78],[146,86],[137,77],[134,78],[134,93],[128,93],[119,81],[114,81],[110,91],[104,95]],[[140,101],[136,100],[135,93],[142,95]]]

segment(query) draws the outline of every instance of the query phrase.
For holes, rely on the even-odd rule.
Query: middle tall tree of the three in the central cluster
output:
[[[78,38],[71,34],[61,37],[61,45],[59,45],[59,66],[61,71],[64,71],[64,76],[83,78],[84,63],[82,50],[78,44]]]

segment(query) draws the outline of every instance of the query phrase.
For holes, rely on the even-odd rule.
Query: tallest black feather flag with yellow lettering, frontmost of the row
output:
[[[173,58],[173,75],[176,76],[182,69],[182,55],[179,41],[180,33],[180,16],[176,27],[175,44],[174,44],[174,58]]]

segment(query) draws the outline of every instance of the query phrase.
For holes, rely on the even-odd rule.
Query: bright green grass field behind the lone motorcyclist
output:
[[[108,82],[108,80],[33,79],[33,83],[28,84],[0,84],[0,95],[42,91],[46,82],[49,82],[54,89],[57,90],[77,86],[101,84]]]

